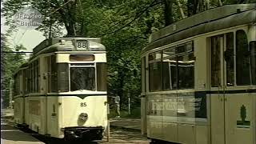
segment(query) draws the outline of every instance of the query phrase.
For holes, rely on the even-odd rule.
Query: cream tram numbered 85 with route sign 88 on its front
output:
[[[99,38],[50,38],[14,74],[14,121],[54,138],[101,139],[106,48]]]

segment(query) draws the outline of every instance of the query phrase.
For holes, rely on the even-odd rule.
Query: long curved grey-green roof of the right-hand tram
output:
[[[150,35],[150,44],[142,53],[198,34],[252,22],[256,22],[256,3],[220,6],[194,14],[154,32]]]

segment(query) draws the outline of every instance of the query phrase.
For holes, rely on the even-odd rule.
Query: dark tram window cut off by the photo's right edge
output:
[[[250,66],[252,84],[256,85],[256,41],[250,42]]]

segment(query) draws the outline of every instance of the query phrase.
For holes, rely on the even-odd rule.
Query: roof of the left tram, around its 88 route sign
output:
[[[78,42],[85,43],[85,47],[78,48]],[[54,51],[90,51],[106,50],[101,38],[48,38],[33,49],[33,57],[38,54]]]

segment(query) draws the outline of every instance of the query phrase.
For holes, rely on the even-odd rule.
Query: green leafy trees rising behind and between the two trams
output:
[[[118,94],[121,97],[121,108],[126,110],[128,93],[130,93],[132,106],[140,105],[138,95],[141,93],[141,50],[147,45],[150,34],[161,29],[166,23],[176,22],[182,18],[177,2],[170,0],[6,0],[3,2],[2,12],[11,30],[14,30],[12,16],[20,8],[29,6],[45,15],[42,26],[38,28],[44,32],[45,36],[49,36],[50,30],[54,37],[61,36],[65,27],[68,36],[102,38],[102,43],[107,49],[108,92],[112,96]],[[198,0],[180,0],[179,2],[186,16],[196,14],[206,7],[199,10]],[[218,2],[218,0],[211,0],[209,8],[219,6]],[[223,4],[237,2],[238,0],[227,0]],[[14,56],[10,55],[8,58],[14,59],[11,58]],[[15,69],[17,69],[16,66],[11,70]],[[11,73],[12,71],[6,72],[9,75]]]

